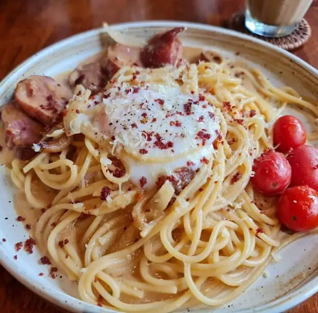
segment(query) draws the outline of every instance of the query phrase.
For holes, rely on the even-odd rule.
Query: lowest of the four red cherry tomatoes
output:
[[[308,186],[286,189],[278,202],[278,217],[297,232],[318,227],[318,192]]]

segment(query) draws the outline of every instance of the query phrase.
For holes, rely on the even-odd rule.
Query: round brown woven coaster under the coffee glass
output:
[[[309,39],[311,36],[311,29],[306,19],[302,19],[296,29],[288,36],[273,38],[273,37],[263,37],[251,33],[244,25],[245,16],[243,12],[236,13],[229,23],[229,28],[249,34],[253,37],[262,39],[264,41],[275,44],[275,46],[280,47],[285,50],[297,49]]]

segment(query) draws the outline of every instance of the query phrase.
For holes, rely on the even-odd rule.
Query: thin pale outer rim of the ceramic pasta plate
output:
[[[228,30],[220,27],[198,24],[198,23],[189,23],[183,21],[138,21],[132,23],[121,23],[112,25],[115,30],[125,30],[129,28],[145,28],[145,27],[165,27],[165,28],[173,28],[173,27],[189,27],[192,29],[204,30],[204,31],[211,31],[218,34],[224,34],[226,36],[234,36],[244,41],[253,42],[258,46],[263,46],[268,50],[272,50],[278,55],[281,55],[285,58],[288,58],[290,61],[295,62],[305,70],[307,73],[311,74],[315,79],[318,79],[318,71],[313,68],[310,64],[306,63],[302,59],[298,58],[297,56],[284,51],[281,48],[274,46],[271,43],[267,43],[260,39],[251,37],[246,34],[242,34],[233,30]],[[71,42],[77,41],[79,39],[83,39],[89,36],[99,35],[103,31],[102,28],[93,29],[87,32],[83,32],[68,38],[65,38],[57,43],[48,46],[47,48],[35,53],[33,56],[22,62],[18,65],[14,70],[12,70],[1,82],[0,82],[0,95],[6,94],[6,90],[8,89],[8,84],[10,84],[10,78],[13,75],[18,74],[21,72],[21,76],[23,74],[23,69],[31,64],[36,63],[37,59],[41,59],[46,55],[52,53],[55,49],[60,49],[64,46],[67,46]],[[6,96],[5,96],[6,97]],[[29,289],[33,290],[36,294],[41,296],[42,298],[70,311],[82,311],[82,312],[112,312],[112,310],[106,308],[100,308],[98,306],[92,305],[90,303],[86,303],[81,301],[75,297],[67,295],[61,289],[57,287],[47,286],[45,281],[40,281],[37,277],[34,277],[28,272],[22,271],[21,269],[15,266],[14,261],[9,258],[8,255],[4,253],[3,249],[0,249],[0,263],[5,267],[5,269],[15,277],[19,282],[23,285],[28,287]],[[240,313],[276,313],[276,312],[283,312],[302,301],[308,299],[310,296],[318,292],[318,276],[313,273],[309,278],[308,281],[305,282],[302,286],[298,287],[296,290],[287,293],[286,295],[280,297],[277,300],[274,300],[270,303],[265,305],[261,305],[258,308],[248,308],[248,309],[241,309],[239,310]],[[211,312],[213,308],[211,308]]]

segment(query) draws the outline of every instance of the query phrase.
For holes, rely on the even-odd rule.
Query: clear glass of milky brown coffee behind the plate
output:
[[[292,33],[312,0],[246,0],[245,26],[265,37]]]

